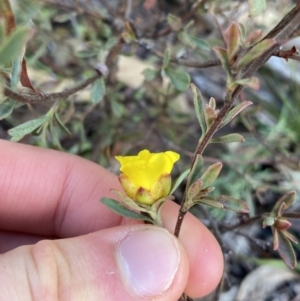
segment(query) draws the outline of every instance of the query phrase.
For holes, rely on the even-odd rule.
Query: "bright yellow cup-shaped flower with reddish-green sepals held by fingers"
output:
[[[171,190],[171,170],[179,154],[167,151],[150,153],[142,150],[137,156],[117,156],[120,162],[120,183],[133,200],[151,205]]]

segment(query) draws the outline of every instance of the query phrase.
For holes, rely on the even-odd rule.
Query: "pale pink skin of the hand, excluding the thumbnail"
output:
[[[176,301],[183,291],[201,297],[216,287],[223,256],[200,221],[187,214],[178,243],[102,205],[111,188],[121,190],[117,176],[97,164],[0,140],[0,301]],[[177,213],[176,204],[164,205],[170,233]],[[176,245],[178,266],[162,292],[141,296],[119,272],[116,250],[134,231],[156,230]]]

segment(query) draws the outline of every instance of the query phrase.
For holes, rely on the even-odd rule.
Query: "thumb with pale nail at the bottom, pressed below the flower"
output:
[[[177,300],[188,259],[166,229],[127,225],[0,256],[0,300]]]

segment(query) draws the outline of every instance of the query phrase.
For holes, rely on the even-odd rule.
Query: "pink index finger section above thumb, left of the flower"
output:
[[[119,225],[117,177],[77,156],[0,140],[0,229],[72,237]]]

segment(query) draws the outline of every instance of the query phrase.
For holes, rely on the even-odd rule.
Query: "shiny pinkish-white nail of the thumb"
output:
[[[130,232],[120,241],[117,254],[126,285],[143,297],[166,291],[180,261],[177,240],[167,230],[152,226]]]

